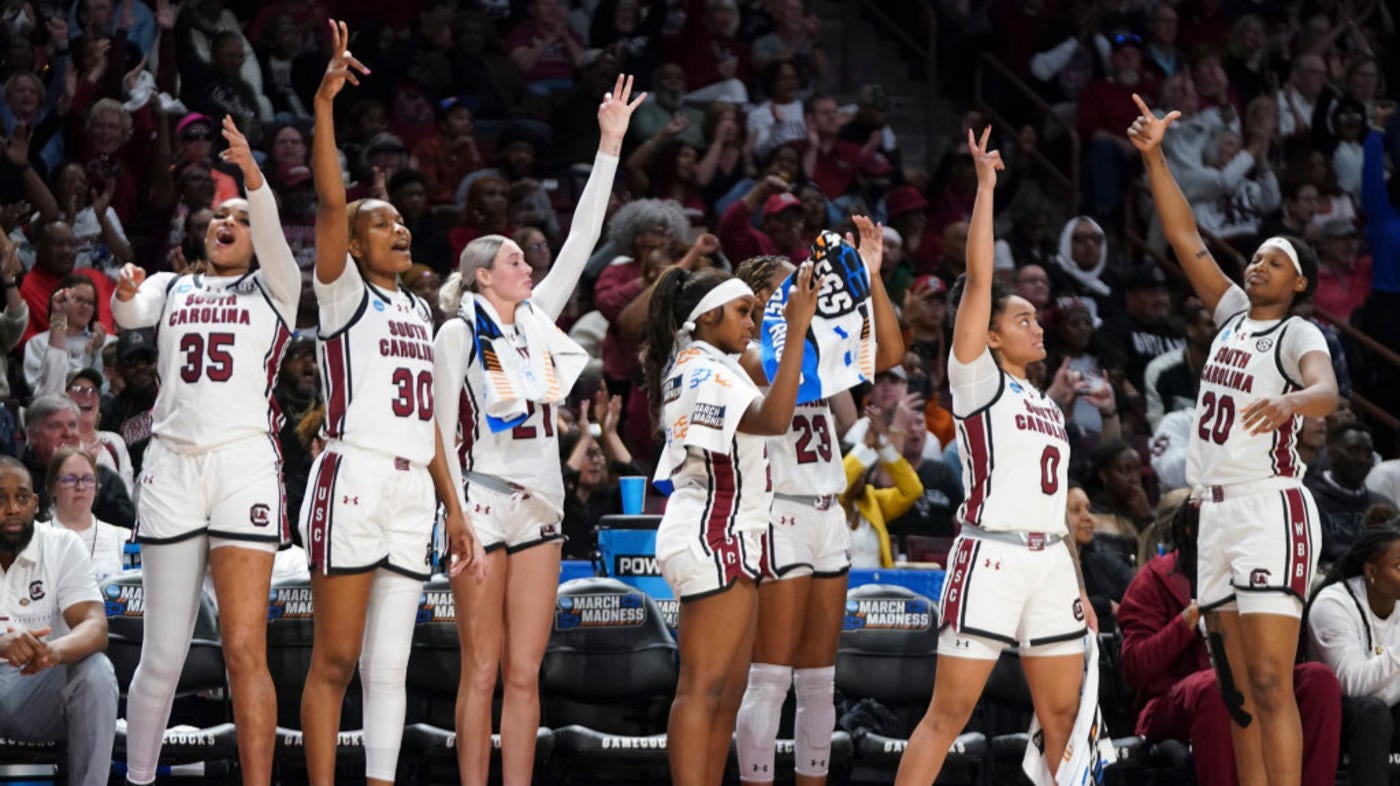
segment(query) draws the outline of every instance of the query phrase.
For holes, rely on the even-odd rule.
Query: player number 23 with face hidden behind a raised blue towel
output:
[[[879,276],[883,234],[865,216],[855,216],[854,221],[861,234],[860,255],[869,272],[878,338],[875,367],[885,370],[903,359],[904,342],[899,317]],[[854,238],[847,235],[847,242]],[[736,275],[753,289],[762,308],[791,272],[792,265],[783,256],[756,256],[739,265]],[[757,336],[755,329],[741,363],[753,384],[766,388],[769,378],[762,367]],[[769,437],[767,450],[773,507],[763,542],[753,664],[738,716],[739,779],[773,782],[778,719],[788,685],[795,685],[797,783],[819,786],[826,783],[836,727],[836,643],[844,618],[846,574],[851,567],[851,531],[836,499],[846,490],[846,469],[827,401],[797,405],[787,432]]]

